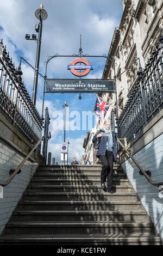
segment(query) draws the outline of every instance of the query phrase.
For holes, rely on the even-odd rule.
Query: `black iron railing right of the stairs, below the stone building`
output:
[[[129,143],[163,107],[163,35],[153,47],[145,69],[139,68],[137,83],[120,117],[118,136]]]

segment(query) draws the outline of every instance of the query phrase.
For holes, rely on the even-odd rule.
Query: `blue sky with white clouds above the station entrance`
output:
[[[82,34],[83,54],[102,55],[108,54],[112,35],[115,27],[120,24],[122,17],[122,3],[120,0],[5,0],[0,2],[0,39],[3,38],[7,51],[10,52],[15,65],[18,65],[20,57],[28,60],[35,66],[36,42],[24,39],[25,34],[37,34],[35,24],[39,20],[35,17],[35,10],[43,4],[48,13],[47,20],[43,21],[40,73],[45,74],[45,61],[47,54],[60,55],[78,54],[80,47],[80,34]],[[67,70],[67,65],[72,58],[54,58],[48,64],[47,78],[77,78]],[[84,78],[101,78],[105,65],[105,58],[86,58],[93,65],[93,70]],[[22,78],[30,95],[33,91],[34,71],[22,62]],[[36,107],[41,114],[43,95],[43,79],[39,77],[37,89]],[[96,96],[82,94],[82,100],[78,99],[79,94],[46,94],[45,108],[49,108],[51,117],[50,129],[52,139],[49,141],[48,151],[52,157],[60,161],[60,143],[64,140],[64,131],[54,130],[54,113],[64,113],[62,105],[67,101],[69,112],[91,111],[96,103]],[[72,121],[73,118],[70,118]],[[62,121],[62,120],[61,120]],[[82,121],[82,120],[81,120]],[[82,122],[81,122],[82,123]],[[95,123],[92,124],[94,126]],[[86,137],[86,130],[66,131],[66,141],[70,141],[69,160],[76,156],[78,160],[84,154],[83,141]],[[90,129],[89,129],[90,130]]]

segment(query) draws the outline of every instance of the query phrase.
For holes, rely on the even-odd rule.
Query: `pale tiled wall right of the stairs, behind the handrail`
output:
[[[133,156],[144,170],[151,171],[153,181],[163,181],[163,133]],[[163,198],[159,198],[158,187],[152,186],[145,176],[139,174],[131,159],[124,161],[122,167],[163,239]]]

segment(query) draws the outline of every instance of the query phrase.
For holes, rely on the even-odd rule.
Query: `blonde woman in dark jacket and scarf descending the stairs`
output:
[[[115,132],[111,131],[111,121],[104,121],[104,129],[96,132],[95,136],[92,139],[92,143],[95,143],[97,138],[100,139],[99,148],[96,153],[96,156],[100,159],[102,164],[101,170],[101,186],[105,190],[105,181],[107,178],[107,190],[109,193],[112,191],[112,171],[113,171],[113,162],[116,161],[120,156],[116,154],[117,143],[115,139]]]

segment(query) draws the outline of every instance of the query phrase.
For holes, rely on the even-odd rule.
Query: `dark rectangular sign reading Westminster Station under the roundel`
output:
[[[111,79],[47,79],[47,93],[114,93],[114,80]]]

